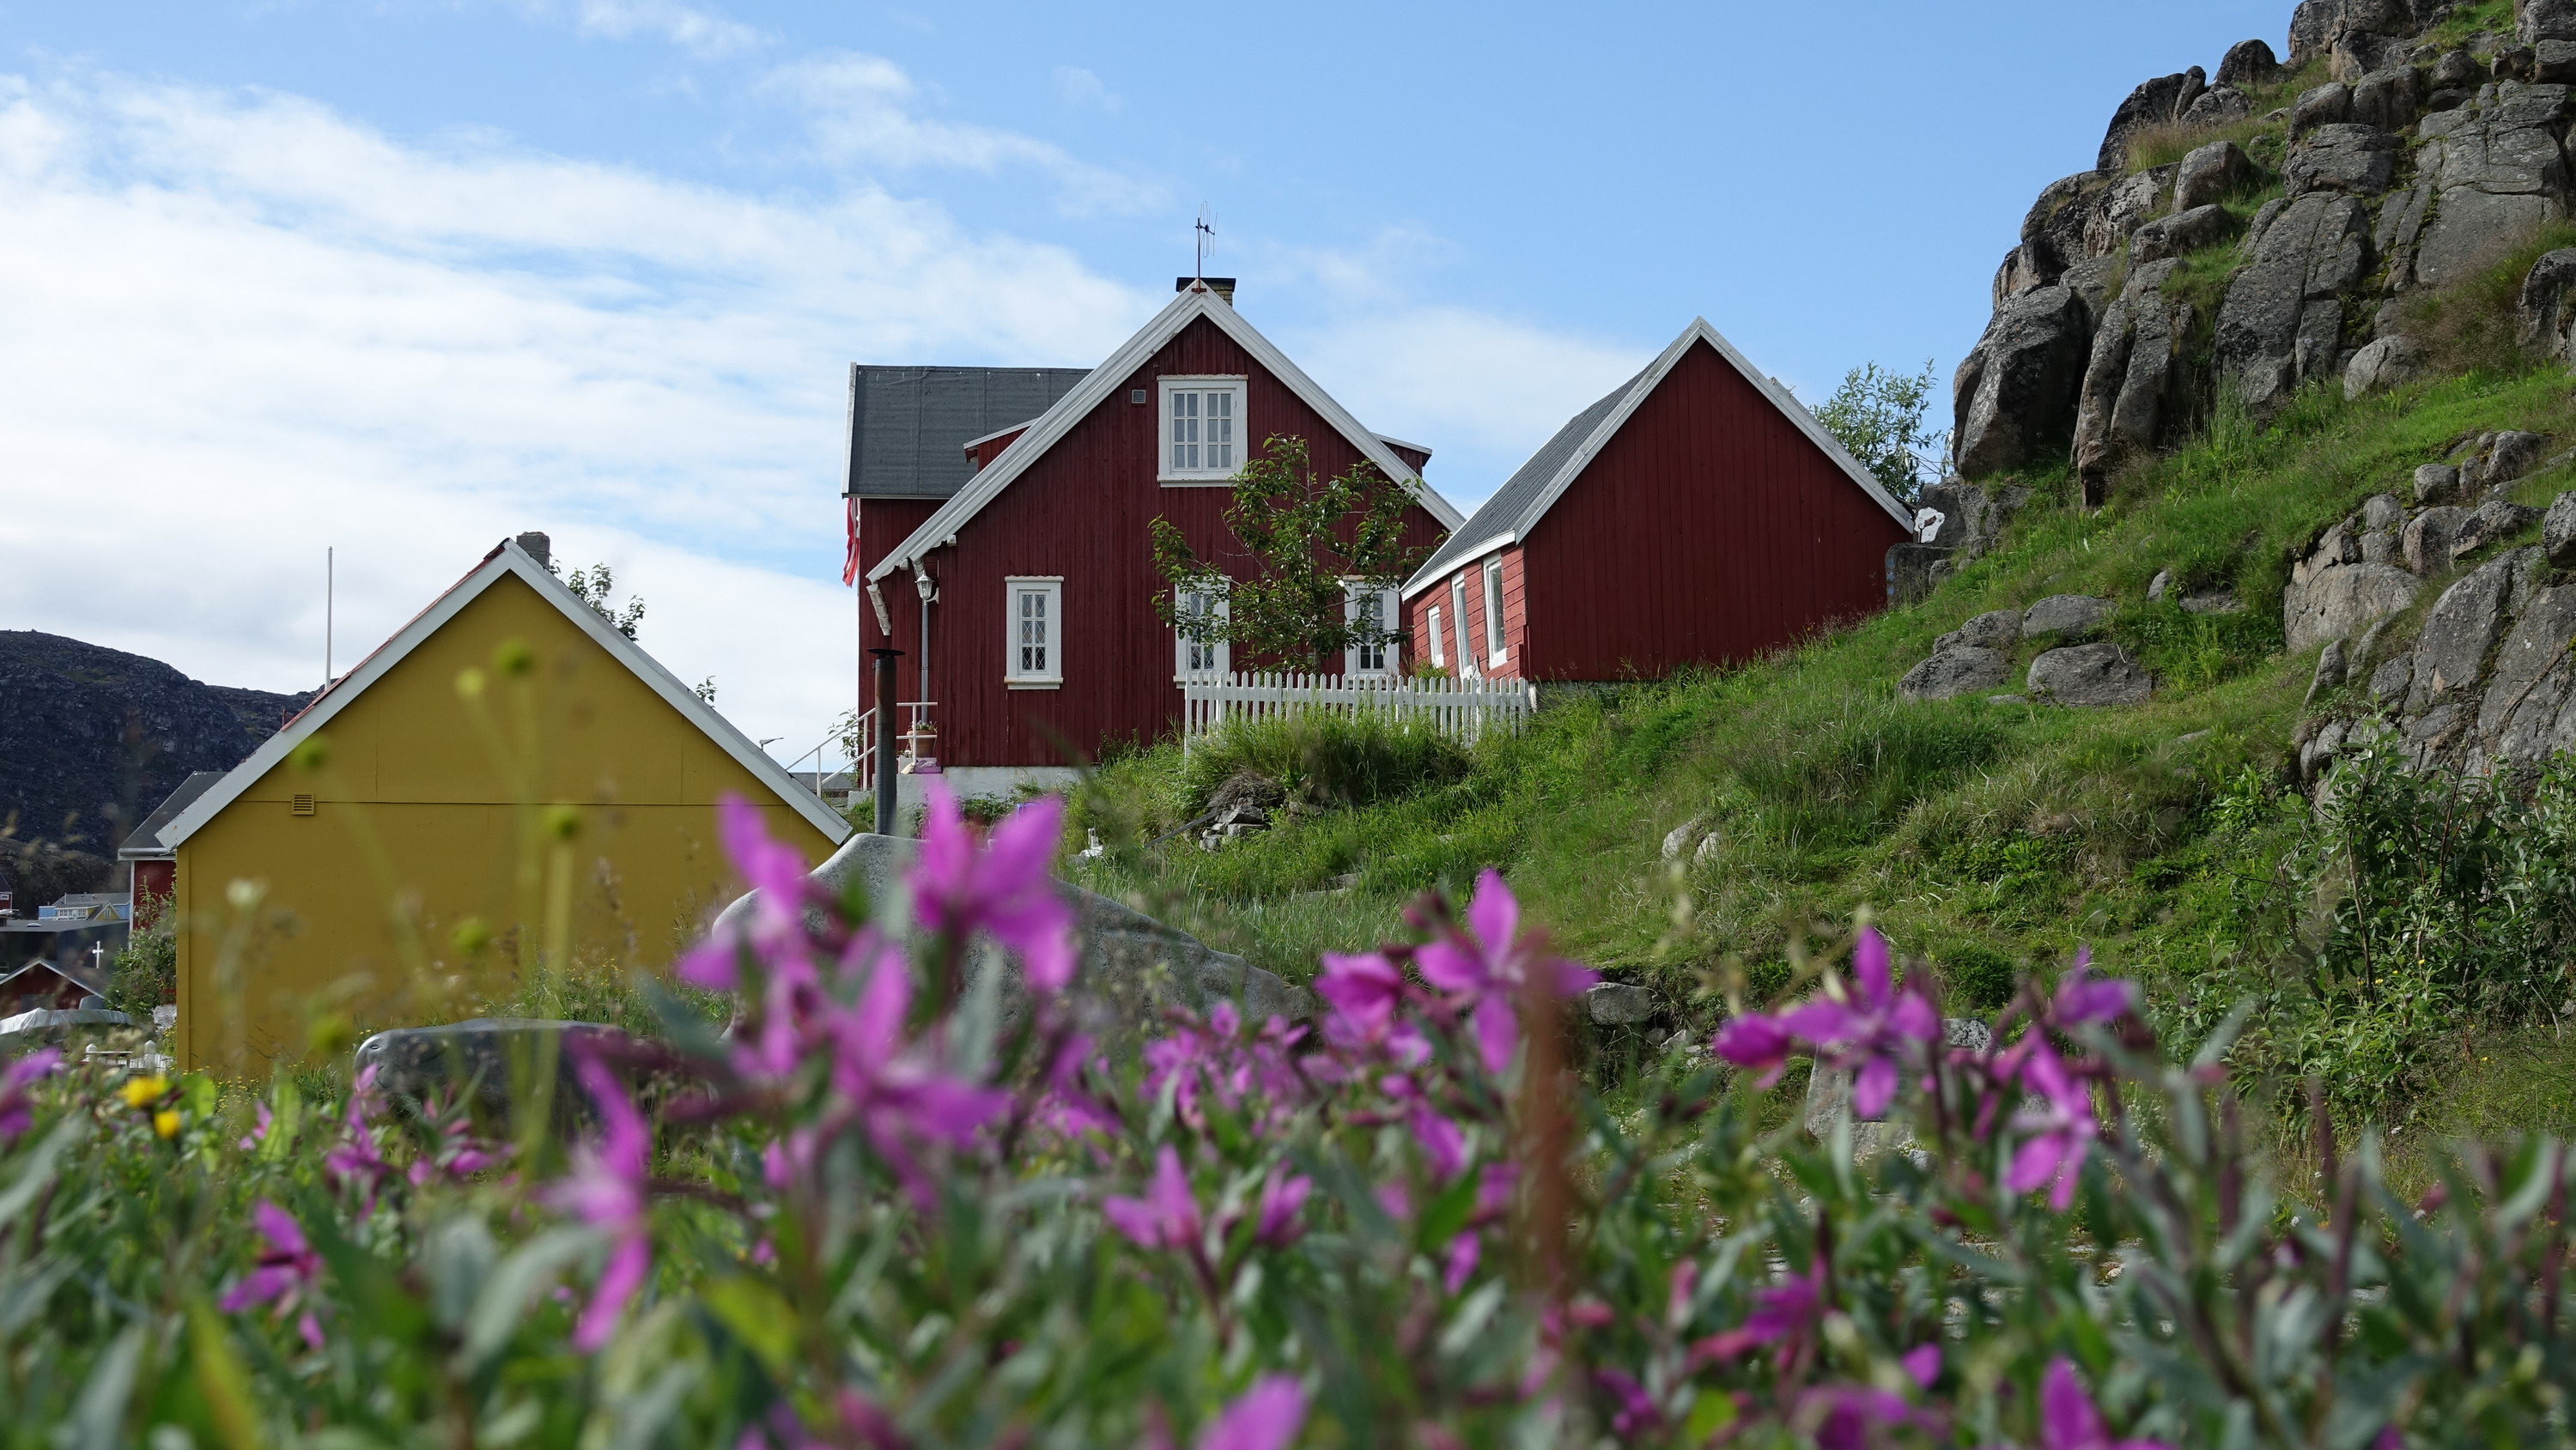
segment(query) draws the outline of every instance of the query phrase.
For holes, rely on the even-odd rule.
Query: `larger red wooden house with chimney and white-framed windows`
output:
[[[948,433],[961,428],[948,422]],[[940,760],[951,788],[1054,780],[1110,742],[1151,742],[1180,721],[1180,675],[1229,659],[1154,613],[1170,585],[1154,569],[1149,523],[1170,518],[1203,559],[1247,574],[1224,510],[1247,453],[1275,435],[1303,438],[1319,476],[1373,464],[1404,487],[1414,546],[1461,523],[1422,482],[1427,448],[1360,428],[1213,278],[1185,278],[1170,306],[1043,412],[948,440],[966,471],[945,497],[927,484],[912,497],[871,492],[881,482],[853,451],[850,569],[868,592],[860,646],[907,652],[896,693],[935,701],[935,744],[920,755]],[[1388,621],[1399,608],[1394,590],[1363,605]],[[1350,664],[1394,670],[1399,654]]]

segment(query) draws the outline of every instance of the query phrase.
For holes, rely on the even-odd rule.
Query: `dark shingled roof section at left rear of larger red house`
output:
[[[943,500],[974,469],[966,443],[1030,422],[1074,391],[1090,368],[881,368],[850,366],[855,497]]]

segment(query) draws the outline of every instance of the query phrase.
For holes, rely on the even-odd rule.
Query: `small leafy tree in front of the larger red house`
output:
[[[1226,528],[1252,559],[1249,577],[1231,577],[1200,559],[1180,528],[1157,518],[1154,569],[1172,582],[1154,613],[1200,644],[1236,644],[1257,659],[1324,664],[1358,646],[1394,644],[1394,618],[1350,610],[1350,590],[1388,590],[1422,567],[1430,549],[1404,546],[1412,494],[1376,464],[1360,461],[1337,479],[1316,479],[1306,440],[1270,438],[1234,476]],[[1182,610],[1185,595],[1224,598],[1226,610]]]

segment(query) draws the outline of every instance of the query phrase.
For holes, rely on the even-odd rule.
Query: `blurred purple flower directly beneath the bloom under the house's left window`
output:
[[[940,1141],[963,1149],[976,1128],[1010,1107],[1010,1095],[951,1077],[922,1043],[904,1040],[912,974],[899,956],[878,948],[866,971],[858,1002],[822,1007],[832,1089],[914,1200],[930,1203],[935,1185],[914,1146]]]

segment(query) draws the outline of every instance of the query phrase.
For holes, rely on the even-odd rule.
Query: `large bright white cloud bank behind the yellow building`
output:
[[[850,358],[1087,363],[1154,304],[876,188],[775,201],[116,77],[0,77],[0,216],[13,628],[301,688],[325,543],[345,667],[546,528],[752,737],[819,739],[850,695]]]

